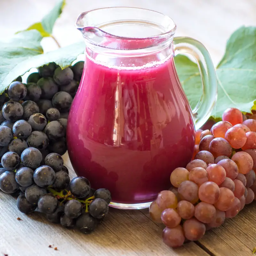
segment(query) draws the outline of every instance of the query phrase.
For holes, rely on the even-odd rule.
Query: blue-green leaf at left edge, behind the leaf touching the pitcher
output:
[[[2,93],[17,75],[10,75],[20,63],[43,53],[42,36],[36,30],[23,31],[6,42],[0,42],[0,92]],[[10,77],[10,78],[8,78]],[[6,84],[6,79],[9,81]]]

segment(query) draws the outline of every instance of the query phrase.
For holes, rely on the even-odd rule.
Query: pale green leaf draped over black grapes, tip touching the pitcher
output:
[[[20,34],[21,33],[19,33],[18,35]],[[0,44],[0,47],[1,47],[1,44]],[[59,48],[52,52],[46,52],[44,54],[34,55],[29,58],[27,56],[27,58],[24,58],[16,65],[13,65],[13,67],[8,70],[7,74],[5,74],[5,76],[3,76],[2,79],[1,79],[1,69],[0,69],[0,94],[4,92],[4,90],[9,86],[9,84],[16,77],[24,75],[31,68],[38,68],[45,64],[49,64],[50,62],[55,62],[56,64],[60,65],[61,68],[66,68],[70,66],[72,62],[76,60],[77,56],[84,52],[84,48],[85,48],[84,42],[79,42],[79,43],[71,44],[66,47]],[[16,59],[14,59],[14,61],[16,61]]]

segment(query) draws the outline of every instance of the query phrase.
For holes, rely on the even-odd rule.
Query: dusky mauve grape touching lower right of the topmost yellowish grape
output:
[[[192,204],[195,204],[199,199],[198,186],[190,180],[183,181],[178,188],[178,192],[181,200],[187,200]]]

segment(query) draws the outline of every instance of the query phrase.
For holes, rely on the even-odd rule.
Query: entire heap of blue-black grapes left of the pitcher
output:
[[[83,68],[84,61],[65,69],[49,63],[0,95],[0,189],[17,197],[20,212],[38,209],[51,222],[90,233],[106,217],[111,194],[85,177],[70,180],[61,156]]]

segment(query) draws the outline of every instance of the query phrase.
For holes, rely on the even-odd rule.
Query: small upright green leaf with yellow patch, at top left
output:
[[[52,28],[55,21],[60,17],[60,14],[63,10],[64,5],[66,4],[65,0],[59,1],[53,9],[44,16],[41,22],[36,22],[26,30],[36,29],[40,32],[43,37],[52,35]],[[19,33],[19,32],[18,32]]]

